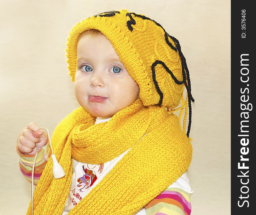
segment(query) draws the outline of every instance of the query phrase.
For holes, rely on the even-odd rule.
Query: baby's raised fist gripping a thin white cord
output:
[[[36,143],[38,143],[38,151],[47,144],[48,135],[45,130],[40,129],[36,123],[29,123],[20,132],[17,144],[19,151],[23,154],[36,154]]]

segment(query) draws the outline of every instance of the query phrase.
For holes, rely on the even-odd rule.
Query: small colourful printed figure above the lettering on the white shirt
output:
[[[77,179],[79,183],[77,187],[81,192],[85,192],[86,189],[92,186],[97,179],[97,176],[93,170],[84,168],[83,166],[83,171],[85,174]]]

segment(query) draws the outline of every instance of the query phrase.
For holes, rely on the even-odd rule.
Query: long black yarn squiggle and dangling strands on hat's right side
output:
[[[155,20],[152,20],[144,15],[140,15],[140,14],[136,14],[136,13],[127,13],[126,16],[129,16],[129,18],[131,20],[128,20],[127,21],[127,27],[128,29],[132,32],[133,31],[133,27],[132,25],[135,25],[136,24],[136,21],[133,19],[132,17],[132,14],[136,17],[140,17],[142,19],[147,19],[147,20],[151,20],[152,22],[154,22],[157,26],[161,27],[163,30],[164,30],[164,37],[165,37],[165,42],[168,44],[168,46],[170,48],[172,48],[175,52],[178,51],[179,53],[179,56],[180,56],[180,59],[181,59],[181,65],[182,65],[182,77],[183,77],[183,80],[182,81],[179,81],[172,73],[172,71],[165,65],[165,63],[163,61],[155,61],[154,63],[152,63],[152,66],[151,66],[151,70],[152,70],[152,78],[153,78],[153,82],[155,84],[155,88],[156,88],[156,91],[157,93],[159,94],[160,96],[160,99],[159,99],[159,102],[157,105],[161,105],[162,102],[163,102],[163,92],[160,90],[159,88],[159,85],[156,81],[156,73],[155,73],[155,66],[158,65],[158,64],[161,64],[165,70],[172,76],[173,80],[175,81],[175,83],[177,84],[183,84],[185,85],[186,89],[187,89],[187,92],[188,92],[188,108],[189,108],[189,116],[188,116],[188,131],[187,131],[187,137],[189,137],[189,132],[190,132],[190,128],[191,128],[191,118],[192,118],[192,108],[191,108],[191,101],[192,102],[195,102],[194,98],[192,97],[192,94],[191,94],[191,82],[190,82],[190,78],[189,78],[189,71],[188,71],[188,67],[187,67],[187,63],[186,63],[186,58],[184,57],[182,51],[181,51],[181,48],[180,48],[180,44],[179,44],[179,40],[176,39],[175,37],[169,35],[165,29],[159,24],[157,23]],[[169,39],[168,38],[171,38],[174,43],[176,44],[176,47],[173,46],[172,43],[170,43]],[[188,83],[187,83],[188,82]]]

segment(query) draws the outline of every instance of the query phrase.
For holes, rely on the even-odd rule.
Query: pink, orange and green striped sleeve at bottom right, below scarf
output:
[[[180,188],[167,188],[146,206],[147,215],[190,215],[191,203],[188,192]]]

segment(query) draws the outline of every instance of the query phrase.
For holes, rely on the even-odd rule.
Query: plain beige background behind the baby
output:
[[[30,184],[15,145],[30,122],[55,126],[78,107],[68,75],[69,30],[82,19],[127,9],[160,23],[187,60],[195,106],[188,176],[192,215],[230,214],[230,0],[0,1],[0,214],[25,214]]]

